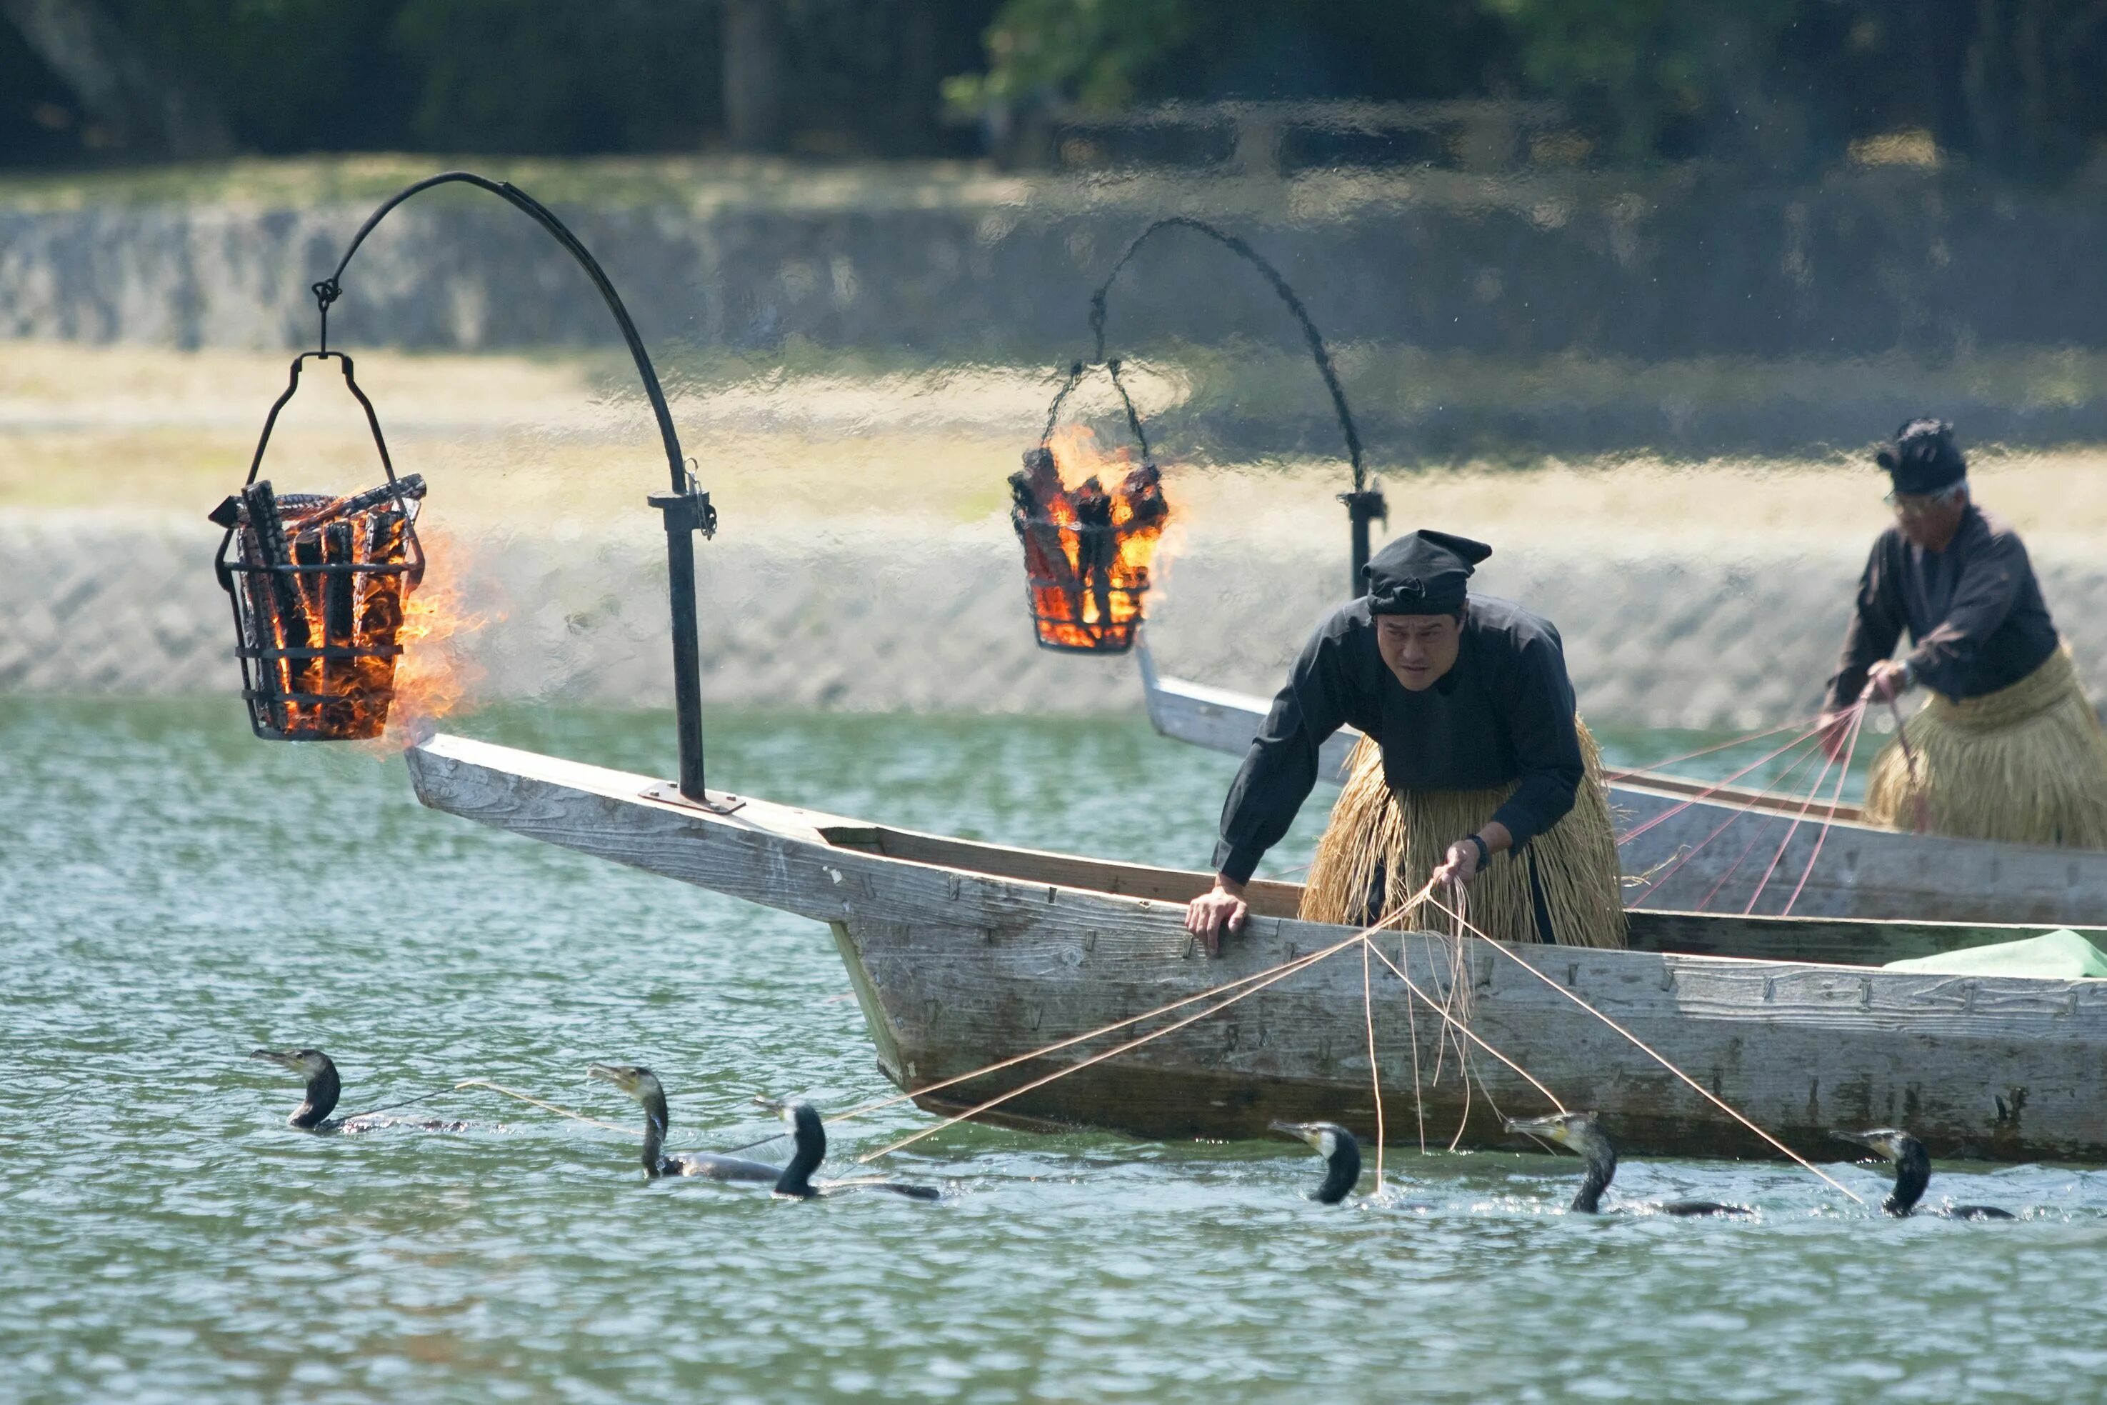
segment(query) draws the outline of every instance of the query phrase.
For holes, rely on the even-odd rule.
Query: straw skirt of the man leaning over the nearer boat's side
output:
[[[1500,942],[1540,942],[1538,908],[1563,946],[1624,946],[1624,902],[1618,885],[1610,788],[1601,779],[1595,737],[1580,727],[1587,775],[1574,807],[1521,853],[1496,853],[1464,889],[1464,916]],[[1473,834],[1515,794],[1494,790],[1393,792],[1382,775],[1382,748],[1363,737],[1332,824],[1317,840],[1302,918],[1370,925],[1418,893],[1441,866],[1448,847]],[[1443,902],[1450,895],[1437,893]],[[1448,927],[1433,908],[1405,927]]]

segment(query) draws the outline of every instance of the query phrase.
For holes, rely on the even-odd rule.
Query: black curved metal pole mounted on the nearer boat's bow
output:
[[[314,284],[314,301],[322,314],[320,350],[329,352],[329,305],[343,295],[343,270],[350,268],[352,255],[358,253],[358,246],[367,242],[367,236],[373,234],[375,225],[394,206],[434,185],[474,185],[525,211],[577,259],[586,276],[592,278],[592,286],[600,291],[607,310],[615,316],[615,326],[622,329],[622,339],[636,362],[636,377],[645,383],[645,398],[651,400],[651,415],[657,419],[659,440],[666,444],[666,468],[672,474],[672,491],[651,493],[649,503],[666,516],[666,588],[672,602],[672,699],[674,727],[681,735],[681,796],[712,811],[735,809],[735,803],[721,805],[710,800],[702,779],[702,642],[695,621],[695,533],[700,531],[704,537],[716,533],[716,510],[710,506],[710,495],[695,487],[695,474],[689,472],[687,459],[681,455],[681,436],[672,428],[672,409],[666,404],[666,392],[659,390],[657,371],[651,367],[643,337],[636,335],[630,310],[622,305],[615,284],[609,282],[607,272],[577,236],[548,206],[510,181],[493,181],[474,171],[445,171],[426,177],[415,185],[398,190],[377,211],[367,215],[367,223],[358,225],[358,234],[352,236],[343,257],[337,259],[337,270]]]

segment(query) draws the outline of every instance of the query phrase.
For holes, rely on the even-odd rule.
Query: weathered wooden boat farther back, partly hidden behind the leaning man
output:
[[[1165,737],[1241,756],[1271,704],[1165,678],[1136,651],[1148,720]],[[1361,735],[1323,746],[1338,784]],[[1637,771],[1610,784],[1633,910],[2059,923],[2107,918],[2107,853],[1907,834],[1865,824],[1854,805],[1804,805],[1736,786]],[[1825,824],[1827,822],[1827,824]]]

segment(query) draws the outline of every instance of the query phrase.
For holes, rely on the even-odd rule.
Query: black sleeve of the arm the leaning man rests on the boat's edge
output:
[[[1216,872],[1249,883],[1258,859],[1287,834],[1317,784],[1319,748],[1346,723],[1346,689],[1344,647],[1325,624],[1302,647],[1228,788]]]

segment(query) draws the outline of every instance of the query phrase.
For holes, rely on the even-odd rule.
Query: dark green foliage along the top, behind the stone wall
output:
[[[670,152],[723,128],[729,0],[82,2],[263,154]],[[813,152],[971,152],[976,124],[1218,97],[1551,97],[1593,160],[1780,175],[1894,131],[2023,179],[2107,150],[2103,0],[773,2]],[[91,137],[0,23],[0,164]]]

